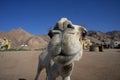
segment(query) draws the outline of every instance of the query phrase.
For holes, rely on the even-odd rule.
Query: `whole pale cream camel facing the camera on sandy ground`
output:
[[[39,56],[38,70],[35,80],[38,80],[41,70],[46,69],[46,80],[70,80],[74,62],[83,53],[83,40],[87,34],[85,27],[74,25],[67,18],[61,18],[49,31],[51,38],[46,51]]]

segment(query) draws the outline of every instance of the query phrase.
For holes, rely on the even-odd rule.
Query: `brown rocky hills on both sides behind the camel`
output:
[[[47,35],[32,35],[21,28],[7,33],[0,31],[0,38],[5,37],[11,41],[11,46],[15,49],[43,49],[47,47],[50,40]],[[120,41],[120,31],[107,33],[88,31],[88,38],[95,43],[111,40]]]

